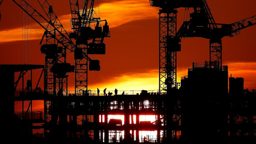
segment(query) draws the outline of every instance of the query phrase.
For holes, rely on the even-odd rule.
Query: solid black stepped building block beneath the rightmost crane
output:
[[[245,92],[243,85],[243,78],[229,77],[228,93],[227,66],[193,63],[181,79],[183,136],[201,142],[255,140],[255,92]]]

